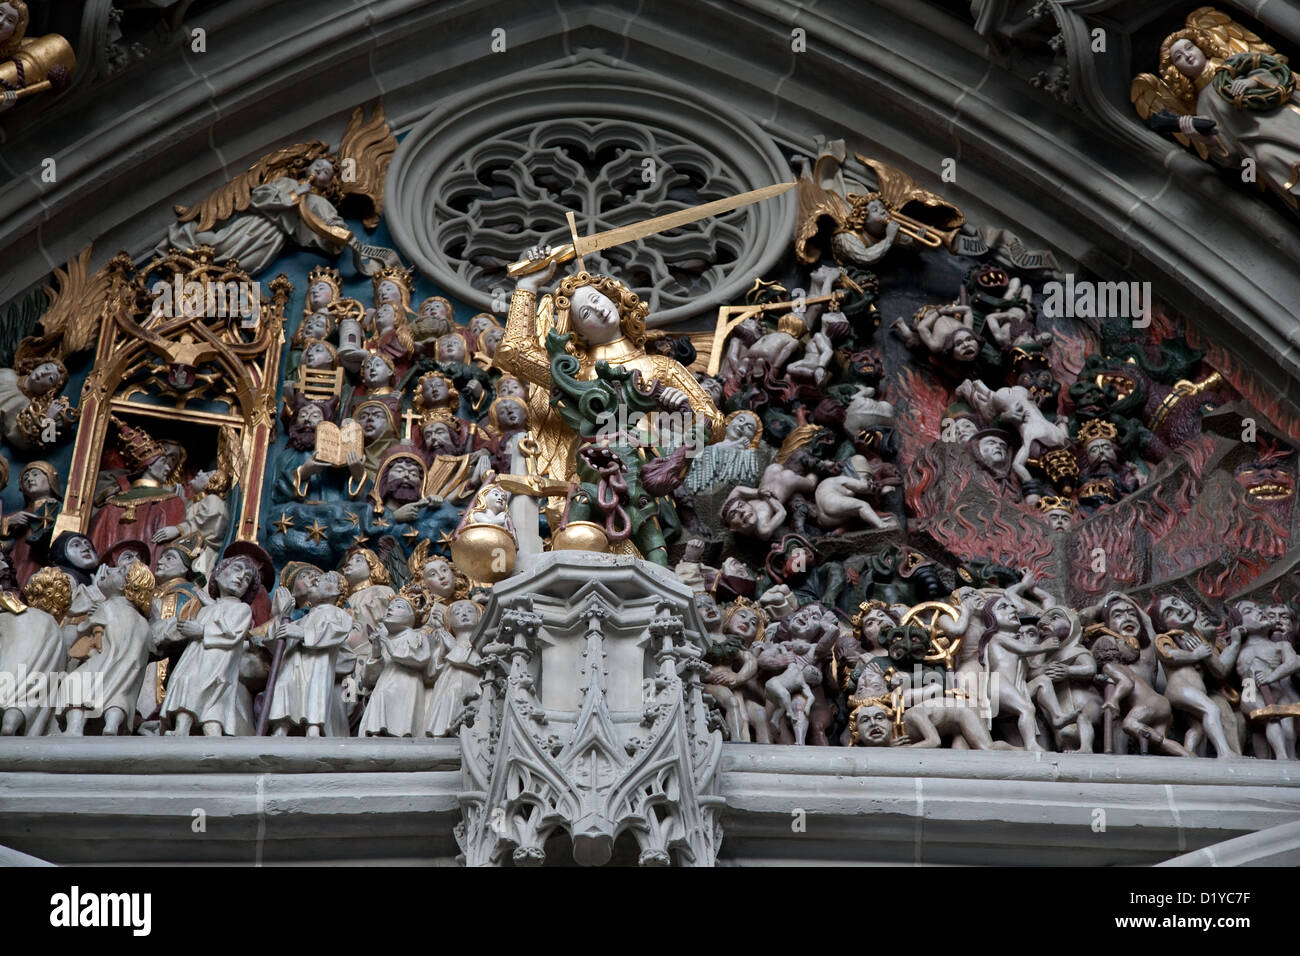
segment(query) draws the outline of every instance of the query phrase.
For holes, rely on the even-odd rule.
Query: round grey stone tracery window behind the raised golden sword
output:
[[[504,311],[529,246],[629,225],[789,181],[780,148],[689,87],[601,61],[516,74],[439,105],[389,168],[402,252],[480,308]],[[794,193],[586,256],[650,303],[651,325],[737,298],[793,234]],[[572,267],[571,267],[572,268]]]

